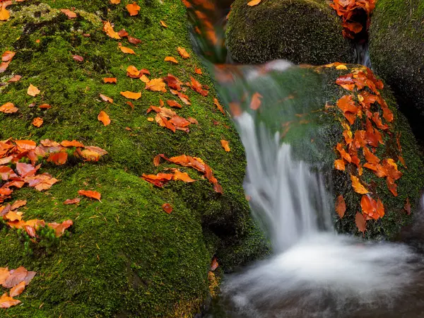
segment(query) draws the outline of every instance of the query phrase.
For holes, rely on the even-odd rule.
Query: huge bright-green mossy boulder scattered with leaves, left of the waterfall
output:
[[[52,245],[31,243],[30,253],[25,252],[23,235],[1,223],[0,267],[37,271],[19,297],[23,304],[1,316],[192,317],[210,298],[208,269],[214,254],[226,270],[268,251],[242,190],[245,154],[237,132],[213,105],[211,78],[194,73],[201,64],[189,49],[184,6],[179,0],[138,1],[139,14],[131,17],[126,4],[132,2],[25,1],[8,6],[11,18],[0,22],[1,54],[16,52],[0,74],[5,84],[0,87],[0,105],[13,102],[18,107],[14,114],[0,112],[0,140],[76,139],[108,152],[97,163],[73,156],[65,165],[43,159],[40,173],[49,172],[60,182],[45,192],[28,187],[13,192],[11,200],[28,200],[21,209],[25,220],[71,219],[73,226]],[[69,19],[61,8],[76,8],[78,16]],[[108,37],[102,31],[106,20],[116,31],[125,28],[141,44]],[[124,54],[118,42],[136,54]],[[187,49],[191,57],[180,58],[177,47]],[[164,61],[167,56],[176,57],[179,64]],[[185,91],[192,105],[176,110],[199,124],[192,124],[189,133],[174,133],[149,122],[148,117],[154,117],[146,114],[150,105],[176,98],[169,89],[145,90],[139,78],[126,76],[129,65],[148,69],[151,79],[172,73],[184,82],[194,76],[208,85],[207,97]],[[14,75],[23,77],[8,83]],[[103,83],[105,77],[116,77],[117,84]],[[30,84],[40,89],[37,97],[27,94]],[[119,94],[126,90],[142,92],[139,100],[131,100],[134,109]],[[113,103],[103,102],[100,93]],[[52,108],[40,109],[41,104]],[[98,121],[101,110],[112,119],[110,125]],[[39,128],[31,124],[35,117],[44,120]],[[221,139],[229,141],[229,153]],[[223,195],[196,170],[170,163],[155,167],[153,158],[160,153],[201,158],[222,185]],[[160,189],[141,179],[143,173],[170,167],[188,172],[196,182],[175,181]],[[102,199],[64,205],[79,189],[98,191]],[[165,203],[172,205],[172,213],[163,211]]]

